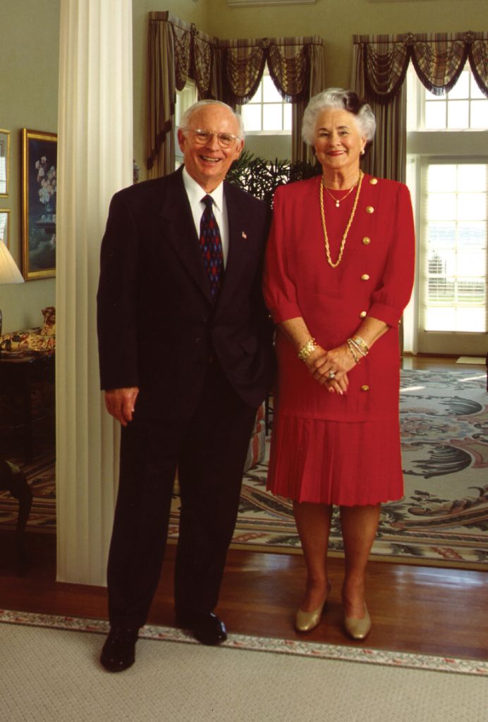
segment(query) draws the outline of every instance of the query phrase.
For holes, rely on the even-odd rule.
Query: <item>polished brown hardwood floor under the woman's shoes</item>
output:
[[[417,368],[453,365],[452,359],[405,361],[407,367]],[[484,370],[479,365],[461,368]],[[25,575],[18,576],[14,534],[0,533],[0,605],[4,609],[106,619],[104,588],[55,581],[54,536],[29,534],[27,544],[32,563]],[[174,557],[175,547],[168,545],[149,617],[153,624],[173,625]],[[330,560],[332,591],[323,621],[310,634],[299,635],[292,619],[305,583],[302,557],[231,549],[217,612],[230,632],[352,645],[341,627],[342,567],[342,560]],[[488,659],[486,572],[371,562],[367,603],[373,620],[368,647]]]

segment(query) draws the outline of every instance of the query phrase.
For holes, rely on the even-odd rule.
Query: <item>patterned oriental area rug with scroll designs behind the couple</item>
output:
[[[405,495],[383,506],[372,559],[488,569],[488,393],[484,370],[402,370]],[[243,478],[232,546],[301,553],[292,505],[266,491],[267,451]],[[34,494],[27,529],[56,531],[52,455],[24,469]],[[0,494],[0,524],[13,528],[17,502]],[[179,497],[170,540],[178,538]],[[1,528],[1,527],[0,527]],[[329,549],[341,556],[339,514]]]

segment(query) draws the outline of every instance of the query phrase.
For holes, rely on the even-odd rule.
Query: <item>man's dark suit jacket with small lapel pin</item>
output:
[[[98,289],[101,386],[139,386],[136,413],[191,414],[211,357],[258,406],[271,385],[272,327],[261,295],[269,212],[225,183],[229,253],[212,304],[182,170],[113,196]]]

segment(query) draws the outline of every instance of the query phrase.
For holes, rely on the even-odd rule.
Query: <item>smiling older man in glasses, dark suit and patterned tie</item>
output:
[[[116,193],[102,243],[100,375],[123,427],[101,657],[110,671],[134,663],[177,467],[176,621],[204,644],[226,639],[213,610],[274,367],[261,297],[268,212],[224,181],[243,149],[240,118],[201,101],[183,116],[178,142],[184,167]]]

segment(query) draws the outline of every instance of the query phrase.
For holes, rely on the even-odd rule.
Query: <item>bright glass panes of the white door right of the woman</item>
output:
[[[426,331],[487,331],[487,175],[482,163],[422,165]]]

